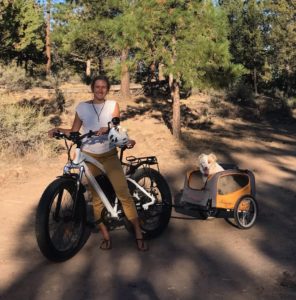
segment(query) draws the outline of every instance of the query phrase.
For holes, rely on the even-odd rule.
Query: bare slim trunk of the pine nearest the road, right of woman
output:
[[[169,84],[173,99],[173,136],[180,139],[181,136],[181,113],[180,113],[180,87],[173,75],[169,75]]]

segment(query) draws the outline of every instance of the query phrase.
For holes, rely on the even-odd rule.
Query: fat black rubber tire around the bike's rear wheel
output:
[[[142,229],[142,234],[144,239],[155,238],[159,236],[166,229],[170,221],[171,212],[172,212],[172,195],[171,195],[170,188],[166,180],[164,179],[164,177],[155,169],[140,168],[136,170],[136,172],[132,175],[131,178],[135,180],[137,183],[139,183],[141,179],[149,178],[150,180],[152,179],[153,182],[157,184],[157,189],[161,195],[162,205],[161,205],[161,213],[160,213],[159,221],[156,228],[151,230],[145,228],[145,224],[141,225],[141,221],[143,221],[141,220],[141,213],[145,213],[145,211],[144,210],[142,210],[142,212],[139,211],[139,207],[137,206],[139,219],[140,219],[140,226]],[[131,195],[133,195],[136,187],[131,182],[128,182],[128,184],[129,184],[130,193]],[[135,202],[137,201],[138,200],[135,200]],[[151,206],[151,208],[153,208],[153,206]],[[149,212],[149,209],[147,212]],[[125,227],[129,232],[134,233],[133,226],[129,221],[127,221],[127,219],[125,219]]]

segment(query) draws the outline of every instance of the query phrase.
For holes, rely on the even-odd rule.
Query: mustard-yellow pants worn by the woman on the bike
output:
[[[103,165],[106,175],[114,188],[117,198],[122,204],[122,208],[128,220],[136,219],[138,217],[136,206],[129,192],[127,181],[123,173],[120,160],[117,156],[117,150],[112,149],[111,151],[103,154],[93,154],[89,152],[85,153],[95,158]],[[87,166],[94,177],[102,173],[97,167],[90,163],[87,163]],[[91,184],[89,184],[89,187],[92,193],[94,217],[95,220],[98,221],[101,219],[104,204]]]

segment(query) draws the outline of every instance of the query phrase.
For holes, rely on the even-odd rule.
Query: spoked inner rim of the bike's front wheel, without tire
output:
[[[67,189],[60,189],[52,201],[48,220],[48,233],[57,251],[68,251],[79,243],[82,234],[81,216],[72,216],[73,198]]]

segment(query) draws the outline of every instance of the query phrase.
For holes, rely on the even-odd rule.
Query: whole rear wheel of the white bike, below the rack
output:
[[[143,237],[151,239],[160,235],[167,227],[172,212],[172,196],[170,188],[163,176],[154,169],[138,169],[131,177],[149,194],[153,195],[156,202],[143,209],[143,204],[151,201],[136,185],[129,182],[130,193],[135,201]],[[130,222],[126,222],[128,231],[133,232]]]

